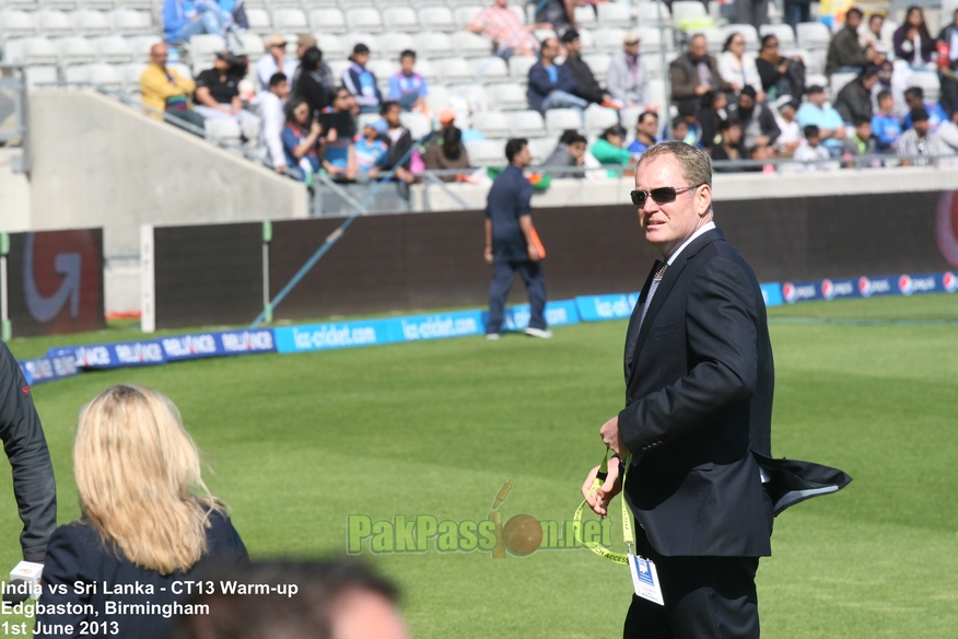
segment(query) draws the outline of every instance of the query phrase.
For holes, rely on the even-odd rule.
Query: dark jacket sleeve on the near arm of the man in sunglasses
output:
[[[686,311],[690,370],[619,413],[622,439],[636,455],[706,427],[710,416],[755,393],[757,300],[747,275],[714,257],[682,276],[694,277]]]

